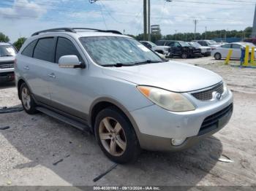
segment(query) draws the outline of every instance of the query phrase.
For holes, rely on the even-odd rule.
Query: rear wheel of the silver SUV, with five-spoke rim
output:
[[[28,114],[37,113],[37,105],[35,104],[34,99],[31,96],[31,91],[29,90],[29,87],[26,85],[26,83],[20,85],[20,99],[25,112]]]

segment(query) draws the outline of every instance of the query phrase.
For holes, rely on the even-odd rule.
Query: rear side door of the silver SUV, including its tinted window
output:
[[[54,61],[55,42],[54,37],[46,37],[31,42],[30,45],[34,46],[32,58],[23,59],[23,70],[26,71],[24,77],[37,101],[43,103],[50,100],[48,73]],[[22,54],[31,51],[31,46],[28,46],[28,49],[25,48]]]

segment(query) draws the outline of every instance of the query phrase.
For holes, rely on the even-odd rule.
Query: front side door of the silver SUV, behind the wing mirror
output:
[[[77,55],[84,62],[76,42],[68,36],[59,36],[56,44],[55,64],[51,74],[54,76],[50,83],[51,105],[56,109],[86,120],[89,93],[85,94],[86,84],[89,83],[89,67],[86,69],[60,68],[59,58],[63,55]],[[86,108],[86,109],[85,109]]]

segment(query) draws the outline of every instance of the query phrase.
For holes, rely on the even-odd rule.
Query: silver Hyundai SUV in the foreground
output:
[[[233,112],[222,77],[159,58],[118,31],[39,31],[20,49],[15,79],[27,113],[91,130],[116,163],[136,160],[140,149],[191,147]]]

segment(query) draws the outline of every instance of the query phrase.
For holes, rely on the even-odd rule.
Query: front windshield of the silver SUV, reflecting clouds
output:
[[[135,39],[118,36],[88,36],[80,38],[91,58],[101,66],[116,64],[162,62],[157,54]]]

